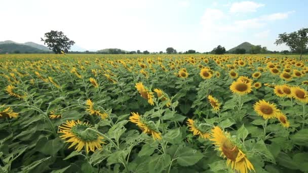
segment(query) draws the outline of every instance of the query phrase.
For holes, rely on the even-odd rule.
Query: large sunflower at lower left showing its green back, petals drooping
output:
[[[87,153],[89,153],[89,150],[92,152],[96,149],[100,150],[101,144],[105,144],[102,141],[104,138],[93,131],[86,131],[87,128],[91,128],[88,122],[66,120],[65,124],[59,126],[58,133],[64,134],[60,136],[61,139],[71,143],[68,148],[75,146],[75,150],[81,151],[85,147]]]

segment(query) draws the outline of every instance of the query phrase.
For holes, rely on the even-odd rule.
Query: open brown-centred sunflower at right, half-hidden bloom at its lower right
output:
[[[257,103],[253,106],[254,111],[262,116],[264,119],[270,119],[275,118],[277,114],[280,112],[276,105],[273,103],[270,104],[269,102],[266,102],[265,100],[259,100]]]

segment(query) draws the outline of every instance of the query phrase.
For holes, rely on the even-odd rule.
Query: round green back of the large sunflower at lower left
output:
[[[71,132],[82,141],[95,141],[97,140],[97,133],[93,131],[86,131],[88,125],[85,124],[76,124],[71,127]]]

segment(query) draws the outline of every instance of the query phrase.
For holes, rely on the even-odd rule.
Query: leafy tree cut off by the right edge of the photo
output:
[[[275,44],[281,45],[286,44],[291,51],[299,52],[300,59],[303,51],[306,49],[308,44],[308,28],[301,28],[298,31],[294,31],[291,33],[282,33],[278,35],[278,39],[276,39]]]

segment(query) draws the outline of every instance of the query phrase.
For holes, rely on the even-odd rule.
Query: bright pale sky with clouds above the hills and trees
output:
[[[0,41],[63,31],[76,48],[178,52],[226,50],[244,41],[281,51],[279,33],[308,27],[308,1],[0,0]]]

